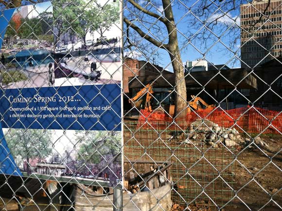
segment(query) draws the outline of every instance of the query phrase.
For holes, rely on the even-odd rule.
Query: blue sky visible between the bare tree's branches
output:
[[[138,1],[139,4],[142,7],[145,7],[146,4],[148,3],[147,0],[139,0]],[[154,6],[155,8],[153,9],[153,11],[155,13],[157,13],[158,15],[163,15],[163,8],[161,5],[161,2],[159,0],[155,0],[155,1],[151,1],[154,2]],[[176,2],[176,1],[175,1]],[[180,1],[179,1],[180,2]],[[190,5],[186,5],[187,7],[185,7],[184,5],[181,4],[174,4],[173,3],[173,10],[174,10],[174,16],[175,16],[175,20],[177,23],[177,29],[179,30],[178,32],[178,42],[180,43],[187,43],[188,39],[191,38],[191,35],[187,35],[187,32],[191,32],[196,33],[197,30],[199,30],[200,32],[203,30],[201,28],[195,28],[194,26],[191,27],[191,25],[189,25],[190,21],[192,19],[194,19],[194,16],[192,15],[192,13],[187,13],[187,8],[192,8],[192,11],[194,10],[194,8],[196,6],[198,6],[199,2],[202,1],[188,1],[190,3]],[[238,4],[239,6],[239,4]],[[186,10],[185,10],[186,9]],[[226,15],[224,15],[224,13],[222,13],[222,11],[224,11],[224,8],[218,9],[216,7],[212,8],[212,13],[210,14],[209,18],[206,18],[206,21],[212,21],[216,18],[218,19],[218,23],[217,23],[217,27],[237,27],[237,35],[239,35],[240,29],[238,26],[240,26],[240,17],[239,17],[239,8],[236,8],[235,11],[231,11],[231,12],[227,12]],[[125,11],[125,15],[126,16],[126,12]],[[202,17],[197,17],[199,19],[202,19]],[[154,18],[152,18],[154,19]],[[202,19],[203,20],[203,19]],[[199,22],[199,21],[198,21]],[[237,24],[237,25],[236,25]],[[202,24],[203,26],[204,24]],[[197,26],[196,26],[197,27]],[[200,27],[200,26],[198,26]],[[217,31],[214,30],[214,33],[216,34]],[[207,48],[205,48],[203,46],[202,43],[200,43],[198,41],[192,41],[192,44],[188,44],[187,47],[185,49],[181,50],[181,58],[182,58],[182,62],[185,63],[186,61],[193,61],[196,59],[206,59],[209,62],[212,62],[214,64],[225,64],[227,63],[227,66],[229,67],[240,67],[240,61],[238,59],[236,59],[236,62],[233,63],[234,60],[232,60],[232,62],[230,61],[230,59],[232,59],[232,57],[234,56],[234,54],[232,54],[226,47],[224,47],[224,44],[229,45],[230,42],[234,42],[233,45],[235,46],[232,50],[238,51],[238,49],[240,48],[240,39],[236,39],[236,40],[232,40],[232,36],[234,32],[230,32],[227,31],[225,34],[221,35],[220,39],[219,38],[215,38],[215,36],[212,36],[213,38],[215,38],[215,42],[214,40],[206,40],[207,44]],[[151,34],[151,36],[153,37],[154,34]],[[185,38],[185,36],[187,36]],[[220,34],[216,34],[216,36],[220,36]],[[220,43],[223,42],[224,44]],[[210,49],[209,49],[210,48]],[[205,50],[209,49],[208,52],[206,52]],[[225,49],[225,50],[223,50]],[[199,52],[200,51],[200,52]],[[160,51],[159,51],[160,52]],[[228,54],[227,52],[231,53]],[[205,56],[203,56],[203,54]],[[237,52],[237,55],[240,55],[240,50]],[[144,58],[143,58],[144,59]],[[146,59],[144,59],[146,60]],[[168,62],[169,61],[169,62]],[[170,63],[170,58],[167,52],[162,51],[161,54],[161,59],[158,60],[160,66],[162,67],[167,67],[166,69],[168,69],[169,71],[173,71],[172,66],[169,64]]]

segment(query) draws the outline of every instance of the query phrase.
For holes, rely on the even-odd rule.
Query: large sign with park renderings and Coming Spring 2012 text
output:
[[[63,4],[0,17],[0,159],[10,155],[0,173],[112,186],[122,172],[120,3]]]

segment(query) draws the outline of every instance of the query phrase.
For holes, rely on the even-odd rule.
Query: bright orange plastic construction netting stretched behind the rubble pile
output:
[[[158,112],[150,113],[141,110],[137,127],[140,129],[177,130],[175,127],[189,125],[196,120],[209,120],[220,127],[235,127],[239,132],[281,134],[282,133],[282,113],[270,111],[257,107],[243,107],[232,110],[223,110],[221,108],[214,110],[192,111],[187,114],[186,119],[177,119],[174,124],[173,118],[167,114]],[[169,126],[168,126],[169,125]]]

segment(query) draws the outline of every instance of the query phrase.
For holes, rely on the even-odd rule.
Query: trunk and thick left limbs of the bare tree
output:
[[[169,54],[171,63],[173,66],[175,74],[175,90],[176,90],[176,106],[175,106],[175,117],[185,117],[186,116],[186,107],[187,107],[187,95],[186,95],[186,84],[184,78],[184,67],[182,64],[180,51],[178,47],[178,38],[177,38],[177,29],[174,19],[174,13],[172,9],[171,0],[162,0],[163,15],[160,16],[155,12],[152,12],[146,8],[143,8],[135,0],[128,0],[128,2],[141,13],[144,13],[151,18],[157,19],[165,27],[163,30],[166,30],[168,38],[167,40],[158,40],[150,36],[149,33],[144,32],[141,27],[135,24],[136,21],[130,20],[127,17],[124,18],[124,22],[127,25],[127,28],[130,27],[135,30],[141,38],[146,39],[153,45],[158,48],[164,49]],[[144,19],[143,19],[144,20]],[[156,25],[157,26],[157,25]],[[158,26],[157,26],[158,27]]]

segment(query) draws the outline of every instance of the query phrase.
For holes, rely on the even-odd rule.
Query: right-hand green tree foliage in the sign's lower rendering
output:
[[[106,131],[78,131],[76,141],[79,143],[78,160],[98,164],[107,155],[115,156],[120,152],[121,133]]]

